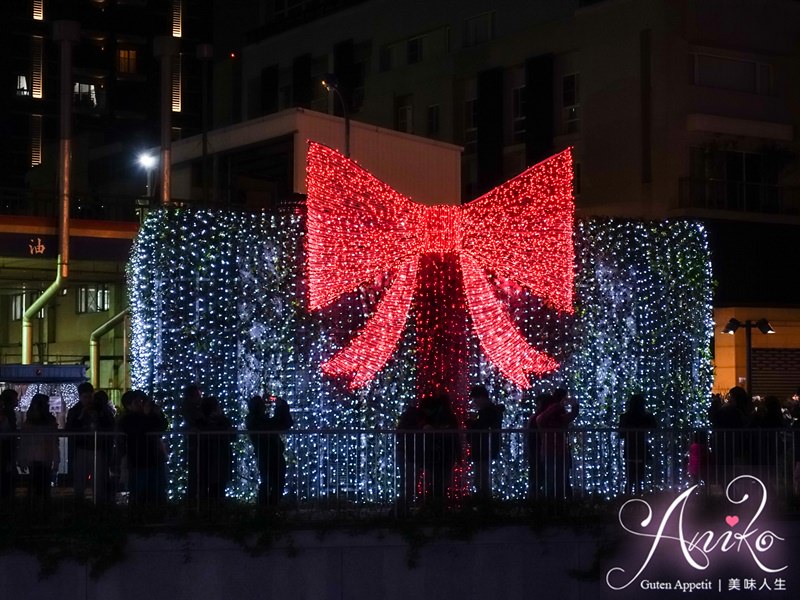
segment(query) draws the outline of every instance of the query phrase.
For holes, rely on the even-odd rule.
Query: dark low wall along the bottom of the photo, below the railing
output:
[[[624,566],[632,575],[645,561],[652,540],[626,534],[614,523],[582,526],[582,531],[499,527],[461,541],[441,536],[423,545],[418,555],[400,535],[374,531],[322,537],[296,532],[291,539],[276,542],[270,553],[255,557],[234,542],[211,537],[136,538],[128,544],[124,563],[97,579],[82,566],[65,564],[40,581],[35,559],[21,554],[0,557],[0,598],[796,598],[800,578],[791,573],[800,561],[796,558],[800,527],[781,521],[770,528],[786,538],[780,542],[786,552],[760,558],[788,564],[781,573],[765,573],[755,564],[748,554],[748,543],[754,544],[755,536],[739,544],[738,551],[732,547],[723,553],[718,546],[709,552],[707,570],[689,567],[677,542],[664,540],[642,575],[623,591],[608,587],[606,573]],[[747,532],[741,525],[737,531]],[[416,566],[409,566],[410,558],[416,558]],[[777,584],[782,589],[775,589],[776,580],[783,581]],[[676,585],[687,589],[681,591]],[[747,589],[752,586],[756,589]],[[759,587],[763,589],[758,591]]]

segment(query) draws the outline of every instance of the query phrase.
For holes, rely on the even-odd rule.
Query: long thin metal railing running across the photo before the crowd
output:
[[[21,431],[0,434],[0,471],[0,513],[84,502],[402,515],[490,498],[563,505],[691,485],[721,495],[741,474],[759,477],[791,509],[800,430]]]

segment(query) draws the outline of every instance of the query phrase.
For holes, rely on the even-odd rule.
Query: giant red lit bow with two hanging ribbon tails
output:
[[[431,176],[434,176],[433,174]],[[308,151],[309,306],[327,306],[365,282],[391,274],[375,314],[323,364],[352,388],[372,380],[400,340],[425,253],[453,254],[472,326],[487,358],[529,387],[531,373],[558,367],[523,338],[487,274],[528,288],[572,312],[572,157],[565,150],[464,206],[423,206],[353,161],[317,143]]]

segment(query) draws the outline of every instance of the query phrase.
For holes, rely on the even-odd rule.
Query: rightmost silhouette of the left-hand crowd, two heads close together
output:
[[[247,403],[245,427],[253,443],[261,481],[258,485],[258,503],[275,506],[286,487],[286,447],[281,432],[292,426],[292,414],[283,398],[275,398],[275,413],[267,415],[267,403],[261,396],[253,396]]]

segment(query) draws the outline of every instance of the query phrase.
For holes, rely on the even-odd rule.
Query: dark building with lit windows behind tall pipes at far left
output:
[[[62,97],[70,115],[69,278],[33,321],[34,362],[87,359],[90,334],[127,304],[125,264],[147,175],[138,153],[158,144],[162,61],[172,38],[171,137],[202,128],[211,0],[14,0],[4,5],[0,65],[0,360],[20,362],[21,313],[53,281],[58,254]],[[56,24],[72,21],[71,67],[62,93]],[[209,69],[206,69],[207,71]],[[209,71],[210,72],[210,71]],[[122,387],[124,327],[101,341],[103,387]]]

